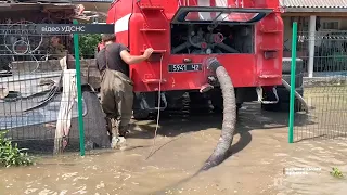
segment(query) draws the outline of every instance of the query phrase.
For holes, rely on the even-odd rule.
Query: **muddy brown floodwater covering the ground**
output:
[[[175,187],[195,173],[211,154],[221,116],[163,119],[156,148],[147,160],[155,122],[136,122],[128,148],[97,151],[85,157],[40,157],[31,167],[0,169],[2,195],[345,195],[347,180],[330,176],[332,167],[347,174],[347,143],[340,140],[287,143],[287,114],[241,110],[233,155],[216,168]],[[164,145],[165,144],[165,145]],[[163,146],[164,145],[164,146]],[[306,167],[288,176],[285,168]],[[288,173],[290,171],[287,171]]]

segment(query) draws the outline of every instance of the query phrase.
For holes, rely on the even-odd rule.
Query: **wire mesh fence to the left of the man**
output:
[[[79,151],[77,118],[82,114],[85,148],[108,147],[93,56],[82,55],[78,112],[73,35],[35,28],[23,22],[0,25],[0,131],[31,153]]]

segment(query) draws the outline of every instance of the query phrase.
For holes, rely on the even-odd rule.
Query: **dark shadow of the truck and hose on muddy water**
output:
[[[310,125],[312,121],[308,120],[305,114],[296,114],[299,120],[296,126]],[[305,119],[306,118],[306,119]],[[129,134],[131,139],[153,139],[156,129],[156,120],[138,121],[137,126],[141,131],[132,130]],[[171,114],[160,113],[159,127],[157,134],[162,136],[172,136],[169,142],[160,145],[156,151],[168,145],[171,142],[180,139],[191,132],[204,131],[210,128],[221,129],[222,114],[205,113],[205,114]],[[287,113],[272,113],[260,109],[258,103],[247,103],[240,110],[236,122],[235,134],[240,135],[237,142],[233,143],[230,154],[236,154],[244,150],[253,140],[250,131],[253,130],[271,130],[277,128],[288,127]],[[217,143],[218,140],[216,140]],[[155,151],[155,152],[156,152]],[[154,152],[154,153],[155,153]]]

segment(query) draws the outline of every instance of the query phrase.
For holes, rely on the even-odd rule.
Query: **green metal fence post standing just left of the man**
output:
[[[78,21],[74,20],[74,24]],[[83,104],[82,88],[80,79],[80,58],[79,58],[79,40],[78,34],[74,34],[75,62],[76,62],[76,80],[77,80],[77,106],[78,106],[78,129],[79,129],[79,150],[80,156],[85,156],[85,127],[83,127]]]

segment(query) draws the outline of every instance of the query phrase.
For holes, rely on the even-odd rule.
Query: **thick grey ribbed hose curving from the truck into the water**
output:
[[[223,96],[223,122],[221,134],[214,153],[205,161],[201,170],[208,170],[221,164],[228,156],[233,140],[236,123],[236,101],[235,91],[231,78],[226,68],[218,62],[217,58],[208,58],[207,66],[218,78]]]

